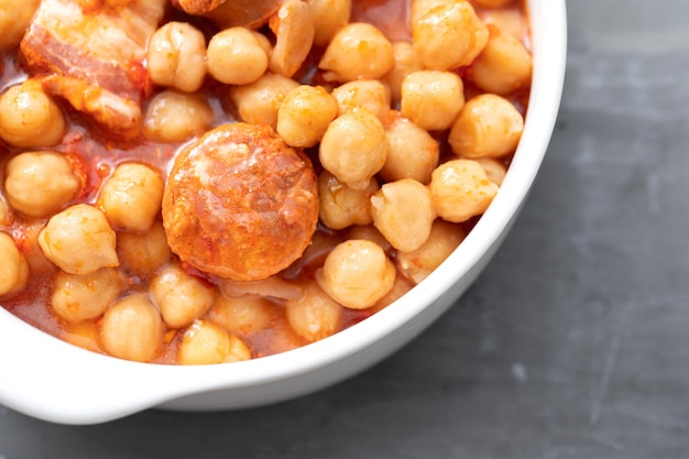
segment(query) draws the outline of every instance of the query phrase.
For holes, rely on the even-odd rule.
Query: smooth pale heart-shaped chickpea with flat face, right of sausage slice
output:
[[[371,197],[373,225],[402,252],[418,249],[436,218],[428,188],[413,178],[389,182]]]

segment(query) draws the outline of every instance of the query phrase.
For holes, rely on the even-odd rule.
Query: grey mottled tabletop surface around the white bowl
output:
[[[567,3],[531,199],[420,338],[259,409],[68,427],[0,407],[0,459],[689,458],[689,2]]]

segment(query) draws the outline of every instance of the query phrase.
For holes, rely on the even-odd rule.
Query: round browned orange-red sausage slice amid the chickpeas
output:
[[[310,161],[269,125],[216,128],[175,160],[163,197],[169,247],[234,281],[276,274],[298,259],[318,222]]]

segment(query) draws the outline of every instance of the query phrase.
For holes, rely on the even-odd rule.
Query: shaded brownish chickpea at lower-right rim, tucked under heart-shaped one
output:
[[[415,284],[426,278],[464,239],[464,230],[457,223],[441,219],[433,222],[426,242],[411,252],[397,252],[395,259],[402,276]]]

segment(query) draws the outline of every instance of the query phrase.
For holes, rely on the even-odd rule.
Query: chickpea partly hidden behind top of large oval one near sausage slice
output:
[[[385,122],[390,113],[390,89],[378,79],[360,79],[338,86],[332,90],[337,99],[338,114],[354,107],[363,107]]]

